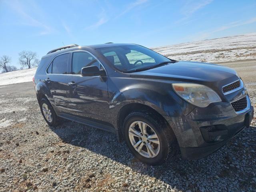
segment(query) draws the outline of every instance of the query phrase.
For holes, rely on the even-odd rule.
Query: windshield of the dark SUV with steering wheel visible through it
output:
[[[171,60],[139,45],[122,45],[98,48],[110,63],[122,72],[135,72],[154,68]]]

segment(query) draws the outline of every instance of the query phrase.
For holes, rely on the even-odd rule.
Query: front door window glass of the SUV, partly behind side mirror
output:
[[[72,74],[80,75],[81,69],[88,66],[97,66],[100,69],[100,63],[87,52],[73,52]]]

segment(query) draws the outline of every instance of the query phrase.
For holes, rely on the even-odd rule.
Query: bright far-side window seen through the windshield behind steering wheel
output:
[[[134,64],[138,60],[142,60],[143,63],[156,63],[152,57],[135,50],[131,50],[130,53],[126,54],[126,57],[130,64]]]

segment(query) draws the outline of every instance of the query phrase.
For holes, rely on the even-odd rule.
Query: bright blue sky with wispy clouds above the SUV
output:
[[[256,32],[256,0],[0,0],[0,56],[63,44],[147,47]]]

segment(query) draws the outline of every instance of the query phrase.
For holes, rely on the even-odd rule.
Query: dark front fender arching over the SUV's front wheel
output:
[[[110,97],[110,115],[117,127],[120,110],[131,103],[144,104],[163,116],[182,116],[194,107],[182,100],[170,86],[170,82],[139,83],[125,86]]]

